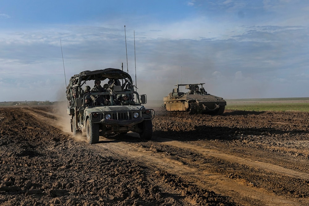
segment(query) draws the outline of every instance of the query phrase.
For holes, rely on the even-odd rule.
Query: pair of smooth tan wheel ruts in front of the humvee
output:
[[[133,134],[134,136],[134,134]],[[102,140],[102,139],[101,139]],[[247,165],[259,170],[271,171],[273,173],[287,175],[292,178],[309,179],[306,173],[285,169],[274,164],[252,161],[248,158],[241,158],[234,155],[222,153],[214,149],[205,149],[201,146],[189,143],[174,141],[167,138],[153,137],[153,141],[161,145],[168,145],[174,148],[181,148],[198,153],[205,158],[219,158],[227,162]],[[180,176],[186,182],[195,184],[200,188],[212,190],[217,194],[229,196],[238,204],[243,205],[307,205],[307,199],[291,198],[282,195],[275,195],[265,188],[254,187],[243,179],[231,179],[222,174],[207,170],[204,167],[194,167],[190,158],[186,162],[170,158],[164,151],[154,152],[154,148],[145,148],[139,143],[127,143],[123,141],[111,141],[103,138],[98,146],[103,147],[104,151],[111,152],[113,155],[125,156],[132,160],[141,162],[148,167],[165,170],[170,174]]]

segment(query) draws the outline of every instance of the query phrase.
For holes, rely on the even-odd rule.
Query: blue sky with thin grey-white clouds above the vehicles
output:
[[[308,97],[307,19],[300,0],[1,0],[0,102],[65,99],[60,40],[67,83],[122,62],[135,80],[134,32],[148,100],[177,80],[224,99]]]

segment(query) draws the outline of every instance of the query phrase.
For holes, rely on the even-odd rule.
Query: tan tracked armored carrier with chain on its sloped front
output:
[[[163,98],[167,111],[184,111],[189,114],[222,115],[226,101],[222,97],[207,94],[203,84],[177,84],[176,88]],[[180,92],[180,86],[188,92]]]

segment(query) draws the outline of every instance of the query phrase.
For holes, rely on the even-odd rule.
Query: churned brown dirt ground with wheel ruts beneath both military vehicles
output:
[[[158,109],[89,145],[55,108],[0,107],[0,205],[309,205],[306,112]]]

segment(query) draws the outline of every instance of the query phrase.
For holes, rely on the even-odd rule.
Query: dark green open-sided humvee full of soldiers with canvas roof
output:
[[[97,80],[106,82],[104,91],[85,93],[83,87],[93,85]],[[73,135],[86,132],[90,144],[99,142],[99,136],[114,136],[129,131],[139,133],[143,139],[151,139],[155,112],[142,106],[147,101],[146,95],[138,95],[134,91],[128,73],[113,68],[83,71],[70,78],[66,89],[67,113],[71,116]],[[129,104],[121,103],[122,95],[129,97]],[[86,103],[87,96],[96,101]]]

